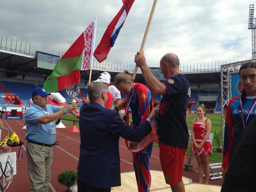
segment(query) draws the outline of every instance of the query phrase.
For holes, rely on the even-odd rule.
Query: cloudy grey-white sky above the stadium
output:
[[[134,62],[142,44],[154,0],[135,0],[107,61]],[[243,0],[158,0],[144,53],[150,67],[173,52],[183,64],[228,63],[252,57],[249,5]],[[0,3],[2,46],[60,56],[97,18],[95,47],[122,0],[10,0]],[[256,13],[254,14],[254,17]]]

